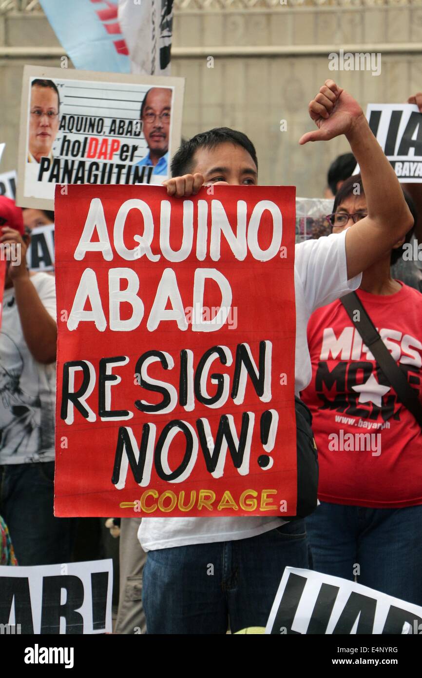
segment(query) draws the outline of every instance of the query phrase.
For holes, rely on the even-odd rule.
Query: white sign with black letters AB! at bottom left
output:
[[[111,633],[112,560],[0,567],[0,630]]]

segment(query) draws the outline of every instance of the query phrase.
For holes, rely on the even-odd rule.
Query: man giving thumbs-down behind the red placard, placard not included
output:
[[[312,312],[356,290],[360,273],[385,256],[413,224],[400,184],[359,104],[327,80],[309,105],[318,129],[300,144],[344,134],[358,161],[368,216],[341,235],[295,248],[295,393],[308,385],[306,326]],[[197,134],[173,158],[168,195],[195,195],[204,183],[255,185],[252,142],[227,127]],[[284,567],[308,567],[301,519],[148,518],[138,538],[148,551],[143,603],[147,633],[232,633],[265,626]]]

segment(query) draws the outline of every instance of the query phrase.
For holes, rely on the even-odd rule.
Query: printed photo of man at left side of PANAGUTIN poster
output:
[[[28,163],[53,159],[51,148],[59,128],[60,97],[52,80],[35,79],[30,88]]]

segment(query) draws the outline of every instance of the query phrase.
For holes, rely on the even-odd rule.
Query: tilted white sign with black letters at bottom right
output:
[[[311,570],[286,567],[266,633],[422,633],[422,607],[368,586]]]

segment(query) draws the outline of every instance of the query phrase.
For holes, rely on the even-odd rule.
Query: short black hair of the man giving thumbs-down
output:
[[[209,129],[208,132],[200,132],[192,136],[192,139],[182,143],[171,161],[171,176],[190,174],[192,160],[198,148],[215,148],[215,146],[228,141],[234,146],[245,148],[258,169],[255,146],[246,134],[238,132],[236,129],[230,129],[230,127],[214,127],[214,129]]]

